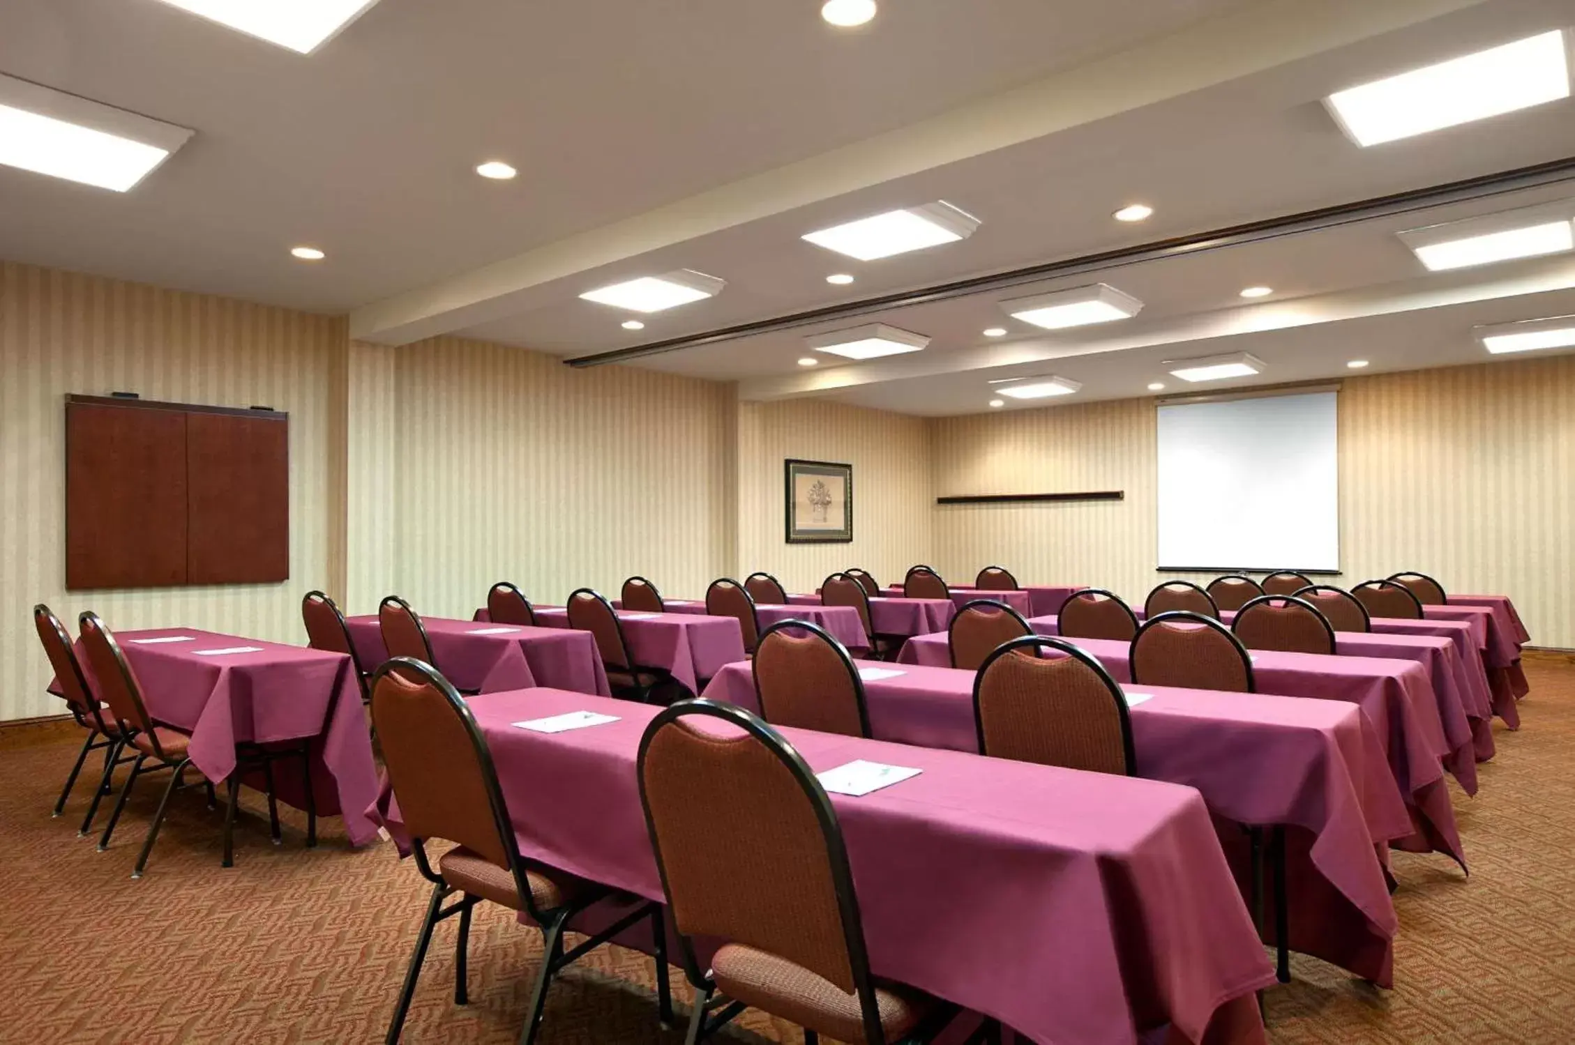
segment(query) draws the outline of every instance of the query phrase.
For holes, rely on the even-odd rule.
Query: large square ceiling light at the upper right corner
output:
[[[1323,99],[1361,146],[1408,138],[1569,98],[1564,31],[1391,76]]]

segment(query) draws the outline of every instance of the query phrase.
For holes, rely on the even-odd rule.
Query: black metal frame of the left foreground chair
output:
[[[487,748],[487,738],[482,737],[480,727],[476,724],[476,716],[471,713],[469,705],[465,703],[460,692],[435,667],[408,656],[384,661],[372,677],[373,688],[378,680],[397,669],[414,672],[425,681],[436,686],[465,727],[465,732],[474,746],[476,759],[482,768],[487,799],[491,806],[493,825],[498,828],[498,836],[504,842],[502,848],[504,855],[509,858],[509,875],[513,878],[513,888],[520,894],[524,913],[529,914],[531,921],[542,930],[542,968],[536,976],[536,987],[531,990],[531,1004],[526,1010],[526,1021],[520,1032],[520,1042],[529,1043],[536,1039],[537,1028],[542,1023],[542,1012],[547,1004],[547,988],[551,987],[553,977],[561,969],[646,918],[650,919],[652,938],[655,941],[657,952],[657,1006],[662,1025],[669,1026],[673,1023],[673,998],[668,990],[668,955],[663,907],[660,903],[644,903],[632,914],[621,918],[595,936],[591,936],[570,951],[564,951],[564,930],[569,925],[569,921],[597,902],[614,895],[614,891],[603,886],[602,891],[591,892],[580,902],[567,903],[550,911],[537,907],[536,899],[531,894],[531,883],[524,877],[524,870],[529,866],[547,866],[537,864],[520,853],[520,845],[515,840],[513,822],[509,818],[509,806],[504,801],[502,788],[498,784],[498,770],[493,765],[491,751]],[[394,788],[394,798],[398,799],[398,781],[395,779],[394,768],[387,766],[387,771],[389,782]],[[416,993],[416,980],[421,977],[421,966],[427,958],[427,947],[432,944],[432,930],[438,925],[438,922],[452,918],[454,914],[460,916],[458,943],[454,958],[454,1004],[468,1004],[466,960],[471,935],[471,908],[485,899],[471,895],[444,881],[443,875],[432,869],[432,862],[427,858],[425,839],[411,837],[410,847],[416,858],[416,869],[421,872],[422,878],[433,884],[433,888],[432,899],[427,903],[427,916],[421,924],[421,935],[416,938],[416,952],[410,958],[410,969],[405,973],[405,985],[400,988],[398,1004],[394,1009],[394,1021],[389,1025],[386,1039],[387,1045],[395,1045],[405,1028],[405,1017],[410,1014],[410,1003]],[[455,892],[460,894],[460,899],[444,908],[443,902]]]

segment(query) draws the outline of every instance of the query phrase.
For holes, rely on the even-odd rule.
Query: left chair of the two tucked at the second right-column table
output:
[[[754,653],[754,697],[773,726],[869,737],[865,683],[847,648],[808,620],[778,620]]]

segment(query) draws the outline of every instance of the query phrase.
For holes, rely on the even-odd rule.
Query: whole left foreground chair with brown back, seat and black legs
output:
[[[510,809],[498,784],[498,770],[476,716],[458,691],[435,667],[395,658],[378,667],[372,683],[372,721],[383,738],[389,787],[416,858],[421,877],[432,883],[427,916],[416,936],[405,985],[400,988],[387,1042],[398,1042],[416,980],[438,922],[460,916],[454,957],[454,1003],[466,1004],[466,963],[471,911],[491,900],[528,916],[542,933],[542,963],[531,990],[520,1042],[532,1042],[542,1023],[547,991],[565,966],[617,933],[650,919],[657,958],[657,1001],[663,1023],[671,1021],[666,932],[660,903],[639,903],[595,936],[564,951],[569,921],[602,900],[630,897],[565,870],[529,859],[520,851]],[[521,812],[529,812],[524,809]],[[454,842],[436,859],[428,840]],[[444,900],[455,897],[444,907]]]

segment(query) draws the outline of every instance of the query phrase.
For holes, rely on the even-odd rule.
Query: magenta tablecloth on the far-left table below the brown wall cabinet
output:
[[[139,639],[191,636],[191,642],[146,645]],[[191,759],[209,781],[236,766],[235,746],[317,737],[312,795],[317,811],[345,818],[351,845],[376,839],[367,806],[376,799],[378,771],[361,707],[361,683],[343,653],[263,642],[243,636],[156,628],[115,636],[148,705],[148,715],[192,735]],[[261,647],[255,653],[203,656],[202,650]],[[82,656],[87,669],[87,656]],[[274,774],[280,801],[306,807],[298,773]]]

